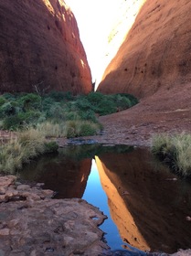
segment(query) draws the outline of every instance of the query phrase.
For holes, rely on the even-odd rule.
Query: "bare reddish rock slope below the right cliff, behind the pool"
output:
[[[100,117],[107,144],[150,146],[155,133],[191,133],[190,84],[181,91],[157,91],[133,108]]]

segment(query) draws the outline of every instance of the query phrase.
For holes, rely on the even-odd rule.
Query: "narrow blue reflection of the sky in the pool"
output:
[[[122,250],[122,239],[117,227],[111,219],[110,209],[108,207],[108,197],[101,187],[101,180],[95,160],[92,160],[88,184],[82,198],[93,206],[100,208],[100,210],[108,217],[108,219],[105,219],[101,225],[101,229],[106,232],[104,237],[111,247],[111,250]]]

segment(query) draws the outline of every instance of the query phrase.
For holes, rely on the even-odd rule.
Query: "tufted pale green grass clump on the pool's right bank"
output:
[[[191,134],[156,134],[152,152],[180,176],[191,176]]]

